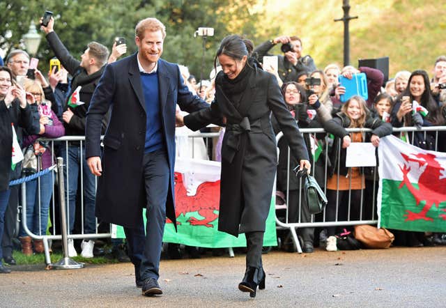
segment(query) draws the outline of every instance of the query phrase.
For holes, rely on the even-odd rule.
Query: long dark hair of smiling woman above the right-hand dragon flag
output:
[[[442,123],[440,108],[438,107],[436,100],[432,96],[431,83],[429,82],[429,76],[427,75],[427,72],[425,70],[414,70],[412,74],[410,74],[409,80],[407,82],[407,87],[403,91],[403,93],[399,95],[399,98],[401,99],[403,96],[409,96],[410,102],[413,102],[414,98],[413,95],[410,93],[410,82],[412,81],[412,78],[414,76],[423,77],[424,92],[421,95],[420,105],[422,105],[424,108],[427,109],[427,111],[429,111],[429,114],[427,114],[426,116],[427,120],[429,120],[433,125],[440,125],[440,123]],[[405,120],[408,125],[412,124],[412,117],[410,116],[410,114],[406,114]]]

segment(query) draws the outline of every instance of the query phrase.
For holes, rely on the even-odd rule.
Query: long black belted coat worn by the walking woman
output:
[[[255,66],[250,69],[254,72],[248,75],[238,107],[219,84],[223,74],[220,72],[210,107],[184,118],[188,128],[199,130],[209,123],[219,124],[226,117],[218,229],[233,236],[265,231],[277,166],[271,111],[289,141],[292,155],[298,160],[308,159],[302,134],[285,105],[277,80]]]

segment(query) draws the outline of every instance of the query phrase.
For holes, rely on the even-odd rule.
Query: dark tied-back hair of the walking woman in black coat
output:
[[[251,56],[254,44],[251,40],[233,34],[226,36],[220,43],[220,47],[217,49],[217,54],[214,58],[214,68],[217,69],[217,58],[221,54],[231,57],[232,59],[240,61],[243,56]]]

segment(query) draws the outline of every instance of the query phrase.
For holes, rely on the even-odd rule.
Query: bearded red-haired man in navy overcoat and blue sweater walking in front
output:
[[[160,59],[166,31],[159,20],[141,20],[135,32],[137,54],[109,64],[93,93],[86,157],[99,176],[96,216],[124,226],[137,286],[143,295],[155,295],[162,294],[157,279],[166,216],[176,225],[176,104],[188,112],[208,104],[190,93],[176,64]],[[109,109],[101,153],[100,125]]]

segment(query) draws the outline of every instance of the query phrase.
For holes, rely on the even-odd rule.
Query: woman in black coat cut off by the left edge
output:
[[[31,107],[26,103],[24,89],[21,86],[13,86],[11,71],[9,68],[0,66],[0,240],[3,237],[4,214],[10,195],[10,174],[15,169],[11,153],[13,131],[19,126],[32,133],[38,131],[38,122],[36,125]],[[20,148],[15,150],[21,151]],[[10,272],[3,266],[1,259],[3,259],[3,253],[0,245],[0,273]]]

